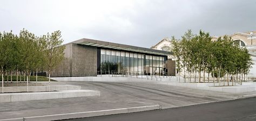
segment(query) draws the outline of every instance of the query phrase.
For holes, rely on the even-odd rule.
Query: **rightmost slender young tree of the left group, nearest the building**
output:
[[[45,38],[45,63],[49,71],[49,91],[51,71],[64,59],[65,46],[62,45],[63,39],[61,37],[60,31],[55,31],[51,34],[48,33],[46,37],[43,37]]]

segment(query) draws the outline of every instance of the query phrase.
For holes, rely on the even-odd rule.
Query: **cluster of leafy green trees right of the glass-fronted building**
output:
[[[210,34],[201,30],[198,35],[188,30],[181,40],[172,37],[172,51],[176,58],[179,81],[180,73],[183,72],[185,82],[186,79],[188,82],[210,82],[212,77],[214,86],[215,81],[232,81],[233,86],[238,76],[242,76],[241,79],[239,77],[240,81],[245,80],[253,64],[248,50],[234,44],[231,37],[225,35],[212,41]]]

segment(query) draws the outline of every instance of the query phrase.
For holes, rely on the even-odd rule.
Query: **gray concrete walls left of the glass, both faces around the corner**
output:
[[[52,70],[51,77],[97,76],[97,47],[78,44],[65,46],[65,59]]]

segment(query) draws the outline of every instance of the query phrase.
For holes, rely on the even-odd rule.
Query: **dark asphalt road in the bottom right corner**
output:
[[[162,120],[256,120],[256,97],[235,99],[231,101],[214,102],[183,106],[179,108],[170,108],[163,110],[153,110],[144,112],[125,113],[119,115],[99,116],[80,119],[69,119],[72,121],[90,120],[90,121],[162,121]]]

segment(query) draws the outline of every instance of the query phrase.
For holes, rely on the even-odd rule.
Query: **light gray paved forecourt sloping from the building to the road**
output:
[[[99,90],[100,97],[45,99],[0,103],[0,119],[97,111],[160,104],[162,108],[223,101],[233,94],[153,84],[150,82],[55,82]],[[252,92],[251,94],[255,94]]]

